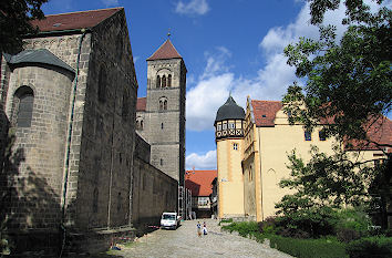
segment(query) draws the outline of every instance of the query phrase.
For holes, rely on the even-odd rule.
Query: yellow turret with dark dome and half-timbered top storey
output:
[[[244,217],[244,153],[245,111],[231,95],[219,107],[215,126],[218,168],[218,217]]]

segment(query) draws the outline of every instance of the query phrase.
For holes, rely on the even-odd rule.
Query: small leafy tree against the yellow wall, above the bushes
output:
[[[334,154],[328,156],[320,153],[316,146],[311,148],[311,159],[305,164],[296,151],[289,154],[288,168],[290,178],[282,179],[280,187],[296,189],[291,197],[285,196],[282,203],[292,203],[290,198],[299,199],[298,207],[307,208],[314,204],[319,206],[341,207],[358,206],[368,197],[368,185],[373,180],[374,168],[369,162],[352,162],[340,146],[334,147]],[[360,172],[360,173],[359,173]],[[283,205],[278,205],[283,207]]]

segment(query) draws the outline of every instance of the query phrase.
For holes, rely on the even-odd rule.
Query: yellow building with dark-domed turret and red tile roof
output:
[[[218,168],[219,218],[248,217],[264,220],[275,215],[275,204],[290,194],[279,187],[288,178],[288,153],[305,161],[310,158],[311,146],[332,154],[333,138],[322,131],[306,132],[303,125],[290,125],[279,101],[247,100],[244,116],[233,97],[218,110],[215,121]],[[379,143],[391,144],[392,122],[385,118],[378,130]],[[392,151],[392,149],[386,149]],[[372,146],[352,151],[360,159],[384,158],[382,151]]]

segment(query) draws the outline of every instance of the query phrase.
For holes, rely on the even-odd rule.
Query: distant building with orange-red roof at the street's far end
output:
[[[213,180],[217,171],[186,171],[185,187],[192,192],[192,210],[197,218],[212,217]]]

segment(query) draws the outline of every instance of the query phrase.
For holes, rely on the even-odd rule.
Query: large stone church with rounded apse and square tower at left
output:
[[[19,251],[102,250],[176,210],[185,64],[179,54],[156,58],[162,51],[147,60],[151,104],[140,130],[147,143],[135,133],[138,84],[124,9],[32,24],[40,32],[1,59],[3,234]],[[153,89],[158,76],[166,87]],[[163,100],[164,112],[154,105]]]

